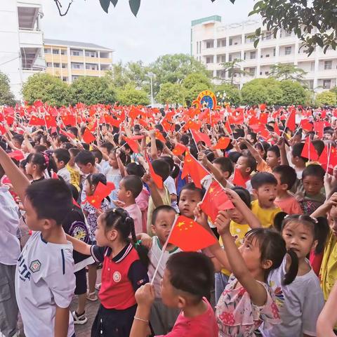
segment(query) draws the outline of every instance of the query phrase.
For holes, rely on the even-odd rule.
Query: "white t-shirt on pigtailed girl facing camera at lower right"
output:
[[[309,261],[308,261],[309,263]],[[322,289],[319,279],[313,270],[305,275],[298,276],[291,284],[284,286],[282,281],[286,274],[286,258],[277,270],[272,270],[268,283],[275,291],[279,315],[282,323],[264,331],[264,337],[282,336],[316,336],[316,322],[324,306]]]

